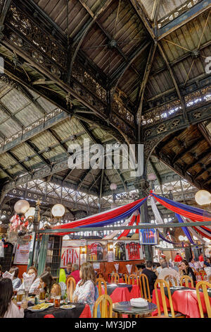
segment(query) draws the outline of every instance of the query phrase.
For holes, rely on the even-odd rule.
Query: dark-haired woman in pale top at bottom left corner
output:
[[[20,309],[13,302],[13,284],[9,278],[0,279],[0,318],[23,318],[27,302],[20,304]]]

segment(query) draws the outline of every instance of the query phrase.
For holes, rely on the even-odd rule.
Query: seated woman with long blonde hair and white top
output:
[[[79,276],[81,280],[79,280],[75,287],[72,300],[77,303],[89,304],[92,313],[96,292],[95,273],[92,264],[89,262],[83,263],[80,268]]]

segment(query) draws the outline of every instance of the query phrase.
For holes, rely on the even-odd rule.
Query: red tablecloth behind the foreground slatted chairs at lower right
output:
[[[161,292],[159,289],[158,289],[158,297],[160,301],[160,309],[163,312]],[[200,292],[200,298],[202,302],[203,312],[206,313],[207,311],[206,311],[203,292]],[[155,290],[153,290],[152,302],[157,304],[155,298]],[[170,309],[170,302],[167,299],[167,297],[166,297],[166,302],[167,302],[167,308]],[[196,290],[194,288],[190,288],[189,290],[175,290],[174,294],[172,295],[172,303],[174,307],[174,312],[181,312],[181,314],[186,315],[186,318],[200,318],[198,300],[197,300]],[[156,316],[157,314],[158,310],[155,310],[155,312],[153,312],[153,316]]]

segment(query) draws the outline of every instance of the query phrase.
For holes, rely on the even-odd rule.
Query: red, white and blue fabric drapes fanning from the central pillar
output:
[[[82,218],[80,220],[73,221],[71,223],[67,223],[65,225],[58,225],[56,227],[53,227],[54,230],[56,229],[63,229],[64,232],[58,233],[58,235],[66,235],[70,232],[65,232],[65,229],[68,228],[75,228],[75,227],[103,227],[107,225],[111,225],[114,223],[117,223],[117,221],[125,220],[123,225],[139,225],[141,223],[140,218],[140,208],[147,201],[148,198],[151,198],[151,206],[153,209],[153,213],[155,215],[155,223],[161,224],[163,223],[162,218],[160,216],[160,213],[158,211],[157,206],[155,205],[155,201],[158,201],[162,206],[165,206],[165,208],[169,209],[170,211],[174,212],[179,223],[184,223],[184,221],[188,220],[188,222],[198,222],[198,221],[211,221],[211,213],[208,211],[205,211],[201,208],[194,208],[193,206],[188,206],[183,203],[178,203],[175,201],[170,200],[169,198],[165,198],[162,196],[159,196],[157,194],[154,194],[153,191],[145,197],[141,198],[138,201],[134,201],[132,203],[126,204],[124,206],[120,206],[117,208],[113,208],[109,211],[104,211],[101,213],[97,213],[96,215],[91,215],[90,217]],[[136,210],[139,210],[139,215],[134,215],[134,212]],[[184,220],[186,218],[186,220]],[[201,239],[200,235],[203,235],[204,237],[207,237],[208,239],[211,239],[211,227],[209,225],[207,226],[196,226],[196,227],[182,227],[184,230],[184,234],[186,237],[188,237],[188,240],[194,244],[193,239],[191,235],[195,235],[198,237],[198,239]],[[129,235],[130,230],[124,230],[122,234],[118,237],[120,239],[121,237],[127,237]],[[138,232],[138,230],[136,230]],[[196,233],[197,232],[197,233]],[[111,235],[108,235],[105,237],[105,239],[113,239],[119,231],[115,230]],[[200,235],[198,235],[198,233]],[[170,242],[169,240],[165,239],[163,235],[159,232],[160,237]],[[203,239],[202,239],[203,240]],[[174,242],[170,242],[174,244]]]

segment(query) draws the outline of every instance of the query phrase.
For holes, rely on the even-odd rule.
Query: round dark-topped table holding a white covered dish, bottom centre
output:
[[[134,307],[129,301],[113,303],[113,312],[117,313],[118,318],[124,315],[131,315],[135,318],[136,315],[147,316],[157,309],[157,305],[151,302],[147,302],[146,307]]]

